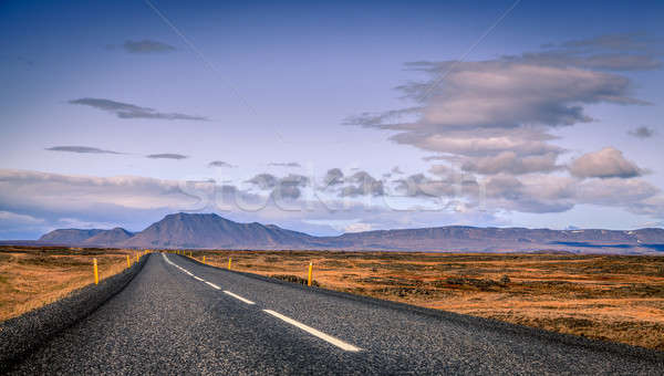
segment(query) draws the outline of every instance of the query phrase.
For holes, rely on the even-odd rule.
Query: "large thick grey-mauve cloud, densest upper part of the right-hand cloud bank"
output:
[[[422,62],[414,70],[433,77],[444,72],[425,103],[422,123],[437,127],[515,127],[572,125],[592,117],[582,104],[645,104],[627,96],[625,76],[521,61]],[[402,86],[421,98],[429,83]]]

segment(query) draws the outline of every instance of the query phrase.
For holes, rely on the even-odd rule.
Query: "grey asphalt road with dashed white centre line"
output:
[[[662,358],[154,253],[12,373],[662,375]]]

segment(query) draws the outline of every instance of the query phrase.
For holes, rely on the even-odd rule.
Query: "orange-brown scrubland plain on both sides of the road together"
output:
[[[129,250],[0,249],[0,320],[126,268]],[[664,258],[572,253],[191,251],[219,268],[664,351]],[[188,252],[187,252],[188,253]]]

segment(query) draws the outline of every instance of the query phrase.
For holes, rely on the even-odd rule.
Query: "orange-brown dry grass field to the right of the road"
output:
[[[323,288],[664,351],[664,258],[397,252],[195,252]],[[294,280],[294,278],[292,278]]]

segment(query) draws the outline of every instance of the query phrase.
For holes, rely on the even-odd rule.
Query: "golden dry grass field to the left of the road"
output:
[[[0,248],[0,321],[51,303],[94,283],[93,258],[100,280],[123,271],[123,250],[66,248]]]

